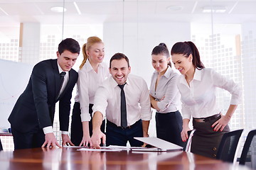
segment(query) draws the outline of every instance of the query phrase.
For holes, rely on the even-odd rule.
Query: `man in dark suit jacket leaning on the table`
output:
[[[45,60],[33,67],[28,86],[8,119],[14,136],[14,149],[61,147],[53,134],[55,103],[58,101],[62,145],[73,145],[68,136],[68,125],[70,99],[78,80],[78,73],[72,67],[79,53],[78,42],[67,38],[58,46],[57,59]]]

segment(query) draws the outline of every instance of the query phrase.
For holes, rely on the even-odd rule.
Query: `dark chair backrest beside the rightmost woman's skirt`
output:
[[[226,132],[220,141],[216,158],[233,163],[241,134],[242,129]]]

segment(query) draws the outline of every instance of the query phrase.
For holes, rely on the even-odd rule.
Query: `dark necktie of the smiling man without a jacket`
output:
[[[121,89],[121,126],[122,128],[127,128],[127,110],[126,110],[126,101],[124,94],[124,85],[118,85]]]

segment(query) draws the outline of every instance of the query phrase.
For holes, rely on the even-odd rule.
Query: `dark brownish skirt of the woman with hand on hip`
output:
[[[218,132],[213,131],[214,127],[212,128],[211,125],[218,119],[220,119],[220,116],[203,123],[196,122],[196,120],[193,119],[193,128],[196,129],[196,131],[192,137],[191,152],[206,157],[216,157],[218,145],[220,144],[223,134],[230,131],[228,125],[225,126],[222,132],[220,132],[220,130],[218,130]]]

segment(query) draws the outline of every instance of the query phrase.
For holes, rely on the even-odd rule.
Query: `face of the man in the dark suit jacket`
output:
[[[63,69],[65,72],[68,72],[75,64],[78,58],[78,53],[72,53],[68,50],[65,50],[63,53],[61,53],[61,55],[59,52],[57,52],[57,58],[61,69]]]

